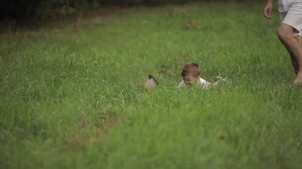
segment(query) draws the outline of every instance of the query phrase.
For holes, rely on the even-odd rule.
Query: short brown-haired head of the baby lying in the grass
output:
[[[200,69],[196,63],[186,63],[181,72],[181,76],[186,85],[193,85],[200,78]]]

